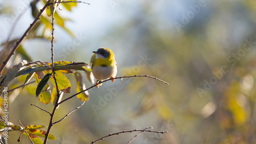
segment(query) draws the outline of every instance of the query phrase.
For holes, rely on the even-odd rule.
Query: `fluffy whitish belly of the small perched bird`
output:
[[[93,76],[97,80],[106,80],[111,77],[116,77],[117,68],[115,67],[108,67],[108,66],[94,66],[93,69]]]

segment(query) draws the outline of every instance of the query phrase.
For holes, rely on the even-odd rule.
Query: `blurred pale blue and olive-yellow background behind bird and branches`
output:
[[[168,133],[144,132],[132,143],[256,143],[255,1],[83,2],[90,5],[61,4],[63,10],[56,10],[55,61],[89,62],[92,51],[108,47],[115,54],[117,76],[146,74],[169,85],[131,78],[93,88],[88,102],[53,126],[57,139],[48,143],[90,143],[109,133],[148,126]],[[8,46],[1,45],[1,63],[44,3],[0,1],[1,43],[19,18]],[[46,12],[42,16],[5,71],[23,59],[51,62],[51,17]],[[71,94],[76,93],[72,74],[66,76],[74,85]],[[8,88],[23,84],[25,78],[13,80]],[[30,104],[48,111],[53,105],[39,102],[30,92],[35,87],[10,93],[10,122],[48,126],[50,116]],[[73,98],[61,104],[54,121],[81,103]],[[9,132],[8,142],[17,143],[19,134]],[[98,143],[127,143],[136,134]],[[19,143],[28,142],[23,136]]]

